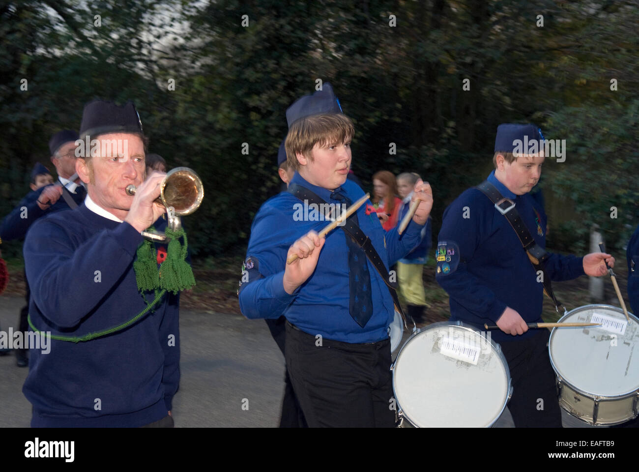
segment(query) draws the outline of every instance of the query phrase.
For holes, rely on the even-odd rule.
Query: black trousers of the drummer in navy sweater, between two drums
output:
[[[561,428],[557,377],[550,364],[550,331],[539,329],[528,339],[500,343],[512,378],[508,404],[515,427]]]

